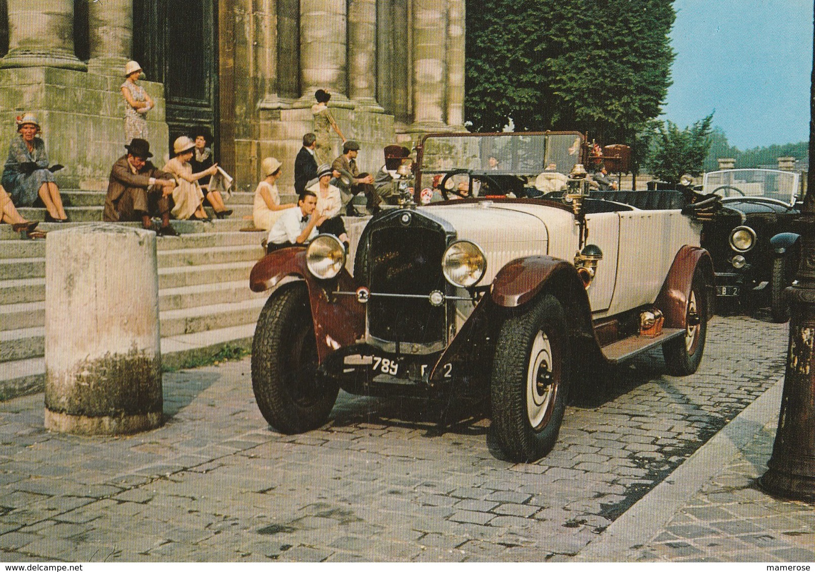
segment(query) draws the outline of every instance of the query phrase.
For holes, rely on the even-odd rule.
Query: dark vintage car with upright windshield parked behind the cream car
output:
[[[716,271],[716,294],[749,305],[768,305],[773,321],[790,317],[784,289],[798,268],[800,173],[740,168],[707,172],[703,194],[722,197],[723,207],[705,223],[702,246]],[[796,207],[798,203],[799,207]]]

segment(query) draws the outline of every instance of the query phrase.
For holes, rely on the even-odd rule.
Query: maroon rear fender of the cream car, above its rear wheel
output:
[[[701,247],[685,245],[674,256],[671,269],[665,277],[662,290],[657,296],[656,306],[665,315],[666,328],[685,328],[685,308],[688,304],[691,282],[697,268],[707,279],[707,284],[713,284],[713,261],[711,255]],[[707,317],[710,317],[711,293],[706,291],[708,308]]]

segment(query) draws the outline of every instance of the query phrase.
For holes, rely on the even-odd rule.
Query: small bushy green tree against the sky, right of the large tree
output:
[[[647,161],[651,175],[674,185],[685,173],[698,176],[712,143],[712,120],[711,113],[685,129],[679,129],[672,121],[660,121]]]

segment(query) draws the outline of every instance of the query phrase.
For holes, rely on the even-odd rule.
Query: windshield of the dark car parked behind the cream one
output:
[[[737,168],[705,173],[703,192],[725,198],[775,199],[795,204],[800,189],[800,174],[773,169]]]

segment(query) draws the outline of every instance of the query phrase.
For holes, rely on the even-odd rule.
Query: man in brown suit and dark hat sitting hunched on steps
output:
[[[113,164],[104,199],[103,220],[108,222],[142,221],[152,229],[151,215],[161,216],[159,236],[178,236],[170,226],[175,181],[169,172],[158,170],[148,161],[152,157],[150,144],[134,138],[126,145],[126,155]]]

